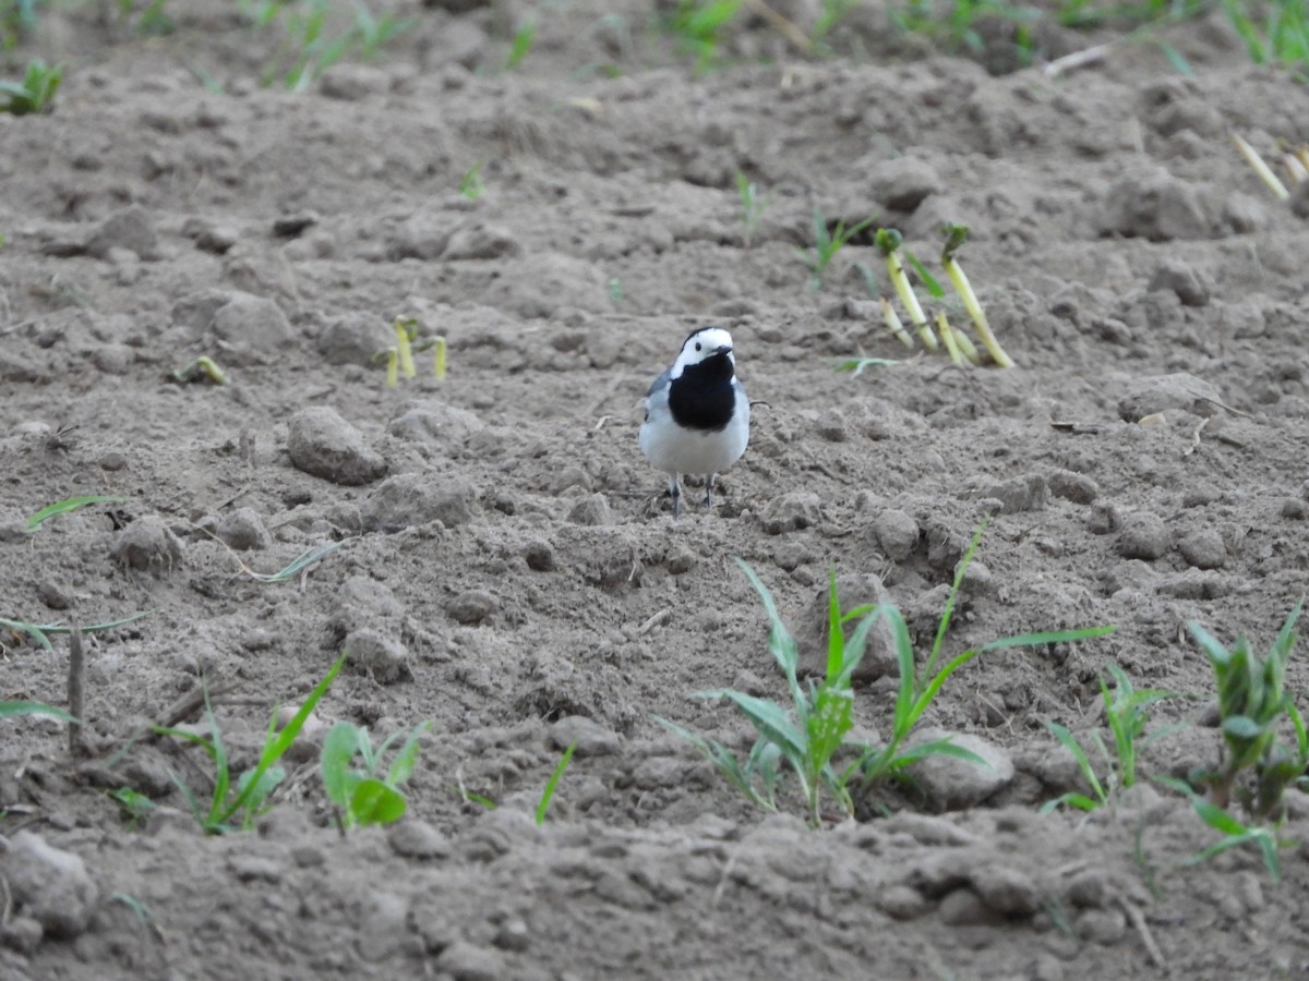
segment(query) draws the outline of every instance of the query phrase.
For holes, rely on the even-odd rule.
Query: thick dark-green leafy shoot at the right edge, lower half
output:
[[[1208,655],[1219,693],[1224,759],[1216,773],[1208,774],[1212,802],[1225,810],[1236,795],[1255,819],[1280,821],[1285,810],[1287,787],[1304,781],[1309,765],[1309,734],[1287,691],[1287,662],[1296,644],[1296,621],[1304,599],[1292,607],[1266,657],[1238,637],[1229,650],[1198,623],[1186,628]],[[1278,727],[1289,725],[1295,746],[1278,740]],[[1249,786],[1246,776],[1253,777]]]

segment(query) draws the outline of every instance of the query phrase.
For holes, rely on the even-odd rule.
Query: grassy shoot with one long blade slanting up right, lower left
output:
[[[336,658],[327,674],[309,693],[295,717],[283,726],[281,731],[278,731],[276,727],[278,713],[272,713],[258,764],[255,764],[254,769],[246,770],[236,780],[233,780],[234,774],[232,773],[226,746],[223,742],[223,734],[219,731],[208,691],[204,692],[204,714],[208,722],[208,735],[171,726],[152,727],[158,735],[171,736],[200,747],[213,764],[213,791],[208,807],[202,804],[195,791],[181,777],[175,773],[173,774],[173,783],[181,791],[191,808],[191,814],[195,815],[196,823],[207,835],[250,831],[255,821],[267,814],[271,807],[268,798],[287,777],[285,770],[278,763],[285,755],[287,749],[291,748],[296,736],[300,735],[305,719],[309,718],[309,714],[318,705],[319,700],[327,693],[327,688],[335,680],[336,675],[340,674],[340,668],[346,663],[346,654],[342,654]]]

